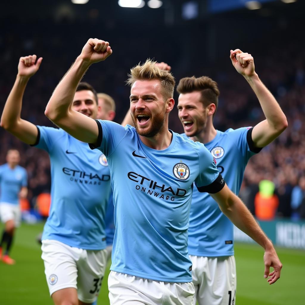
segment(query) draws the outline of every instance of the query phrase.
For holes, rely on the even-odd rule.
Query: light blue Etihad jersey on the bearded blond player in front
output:
[[[201,191],[224,186],[201,143],[172,133],[151,149],[134,127],[97,120],[113,190],[115,234],[111,270],[164,282],[192,281],[187,229],[193,182]]]

